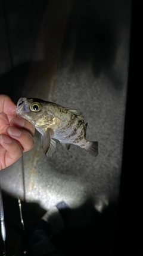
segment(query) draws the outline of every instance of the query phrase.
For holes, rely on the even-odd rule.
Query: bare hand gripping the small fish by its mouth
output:
[[[15,118],[16,106],[7,95],[0,95],[0,171],[34,146],[35,127]]]

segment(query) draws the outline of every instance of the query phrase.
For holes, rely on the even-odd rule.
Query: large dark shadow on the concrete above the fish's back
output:
[[[114,2],[107,4],[102,1],[100,7],[98,6],[100,3],[96,1],[89,1],[89,4],[87,1],[78,2],[67,25],[63,44],[63,67],[70,67],[71,70],[82,69],[84,65],[85,68],[91,67],[96,78],[105,74],[116,89],[122,89],[120,71],[118,74],[114,67],[118,48],[124,43],[121,40],[126,40],[119,38],[120,29],[122,26],[128,26],[129,23],[129,13],[127,13],[128,18],[120,17],[122,10],[124,8],[126,10],[126,2],[125,6],[118,3],[119,17],[118,15],[116,17],[117,7]],[[120,68],[122,70],[122,64]]]

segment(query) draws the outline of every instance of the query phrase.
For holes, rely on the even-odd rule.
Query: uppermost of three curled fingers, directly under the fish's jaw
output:
[[[28,131],[32,137],[35,135],[35,127],[26,119],[23,118],[13,118],[10,125],[17,128],[22,128]]]

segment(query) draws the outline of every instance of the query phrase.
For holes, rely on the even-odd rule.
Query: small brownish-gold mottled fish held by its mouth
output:
[[[82,113],[39,98],[20,98],[16,116],[24,118],[42,134],[43,154],[51,158],[59,140],[67,150],[74,144],[92,156],[98,155],[98,141],[86,140],[86,128]]]

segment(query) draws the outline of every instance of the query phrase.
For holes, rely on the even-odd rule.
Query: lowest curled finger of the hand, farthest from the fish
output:
[[[13,138],[8,137],[5,134],[0,135],[0,144],[6,150],[4,163],[2,168],[8,167],[19,159],[23,154],[23,149],[20,144]]]

